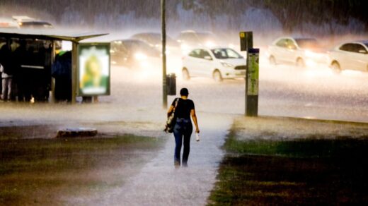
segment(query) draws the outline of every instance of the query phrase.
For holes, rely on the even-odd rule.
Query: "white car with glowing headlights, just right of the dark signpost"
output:
[[[270,63],[292,63],[299,67],[326,63],[327,55],[316,39],[281,37],[268,47]]]

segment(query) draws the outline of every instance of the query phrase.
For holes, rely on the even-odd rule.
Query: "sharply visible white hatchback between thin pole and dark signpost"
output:
[[[230,48],[198,48],[183,57],[183,79],[203,76],[222,81],[224,78],[244,78],[246,59]]]

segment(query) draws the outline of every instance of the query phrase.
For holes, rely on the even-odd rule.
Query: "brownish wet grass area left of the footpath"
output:
[[[163,143],[134,135],[0,140],[0,202],[64,205],[59,197],[121,186]]]

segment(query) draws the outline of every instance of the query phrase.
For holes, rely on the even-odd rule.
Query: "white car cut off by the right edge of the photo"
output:
[[[368,71],[368,40],[338,45],[330,52],[329,65],[337,73],[344,69]]]

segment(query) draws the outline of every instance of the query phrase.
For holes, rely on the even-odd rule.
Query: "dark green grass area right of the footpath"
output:
[[[238,140],[208,205],[367,205],[368,140]]]

